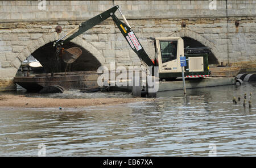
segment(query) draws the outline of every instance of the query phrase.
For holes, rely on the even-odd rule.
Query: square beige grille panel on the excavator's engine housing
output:
[[[203,72],[204,71],[204,58],[203,57],[188,57],[189,72]]]

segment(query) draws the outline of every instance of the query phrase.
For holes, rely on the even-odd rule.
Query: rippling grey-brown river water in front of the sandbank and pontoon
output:
[[[186,96],[164,91],[153,102],[115,106],[0,108],[0,156],[38,156],[42,149],[46,156],[256,156],[255,90],[250,82],[188,89]],[[251,108],[243,107],[245,93]]]

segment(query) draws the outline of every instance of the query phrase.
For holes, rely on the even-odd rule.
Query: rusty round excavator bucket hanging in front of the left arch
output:
[[[60,57],[63,59],[64,62],[67,64],[71,64],[74,61],[76,61],[77,58],[79,58],[82,54],[82,51],[78,47],[72,47],[69,49],[62,49]]]

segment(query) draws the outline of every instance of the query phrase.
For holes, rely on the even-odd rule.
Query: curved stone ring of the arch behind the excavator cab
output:
[[[210,51],[213,53],[213,56],[216,57],[216,59],[217,59],[217,60],[214,60],[214,58],[213,58],[213,60],[214,60],[213,62],[215,64],[218,64],[218,60],[221,60],[221,54],[220,54],[220,52],[218,52],[218,49],[215,47],[214,43],[205,39],[205,37],[201,36],[199,33],[196,33],[194,31],[191,31],[191,30],[188,30],[188,29],[184,29],[184,30],[174,32],[170,36],[183,37],[183,38],[184,37],[189,37],[190,39],[199,41],[205,47],[210,48]]]

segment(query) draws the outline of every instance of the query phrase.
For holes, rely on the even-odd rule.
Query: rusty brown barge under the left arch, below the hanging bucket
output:
[[[14,82],[30,92],[55,93],[64,90],[89,92],[100,89],[97,84],[98,76],[94,71],[46,73],[34,77],[14,77]]]

